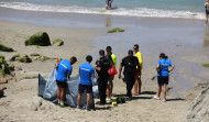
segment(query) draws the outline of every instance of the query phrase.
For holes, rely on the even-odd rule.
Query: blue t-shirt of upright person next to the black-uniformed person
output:
[[[91,75],[95,75],[95,69],[89,63],[81,64],[79,66],[80,84],[92,85]]]

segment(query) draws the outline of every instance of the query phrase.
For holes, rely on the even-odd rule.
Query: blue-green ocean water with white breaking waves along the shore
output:
[[[0,7],[52,12],[205,19],[205,0],[0,0]]]

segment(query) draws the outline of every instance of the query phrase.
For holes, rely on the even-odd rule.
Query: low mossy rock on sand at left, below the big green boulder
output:
[[[11,62],[18,60],[21,63],[31,63],[31,58],[26,55],[26,54],[18,54],[12,56],[12,58],[10,59]]]

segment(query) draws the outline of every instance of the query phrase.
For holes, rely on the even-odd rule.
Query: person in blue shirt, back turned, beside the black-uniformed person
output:
[[[94,67],[90,65],[92,60],[92,57],[90,55],[88,55],[86,57],[86,63],[81,64],[79,66],[79,75],[80,75],[80,84],[78,86],[78,100],[77,100],[77,109],[79,109],[80,106],[80,99],[81,96],[86,89],[87,92],[87,106],[86,109],[89,111],[89,104],[90,104],[90,95],[92,92],[92,82],[91,82],[91,78],[95,78],[95,69]]]

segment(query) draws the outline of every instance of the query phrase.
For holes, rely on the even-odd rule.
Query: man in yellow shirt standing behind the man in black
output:
[[[134,84],[134,91],[133,91],[133,95],[138,95],[138,93],[141,93],[141,87],[142,87],[142,77],[141,77],[141,73],[142,73],[142,68],[143,68],[143,60],[142,60],[142,54],[139,52],[139,45],[135,44],[133,46],[133,51],[135,52],[135,57],[138,57],[139,59],[139,63],[140,63],[140,67],[136,67],[138,68],[138,73],[135,75],[135,84]]]

